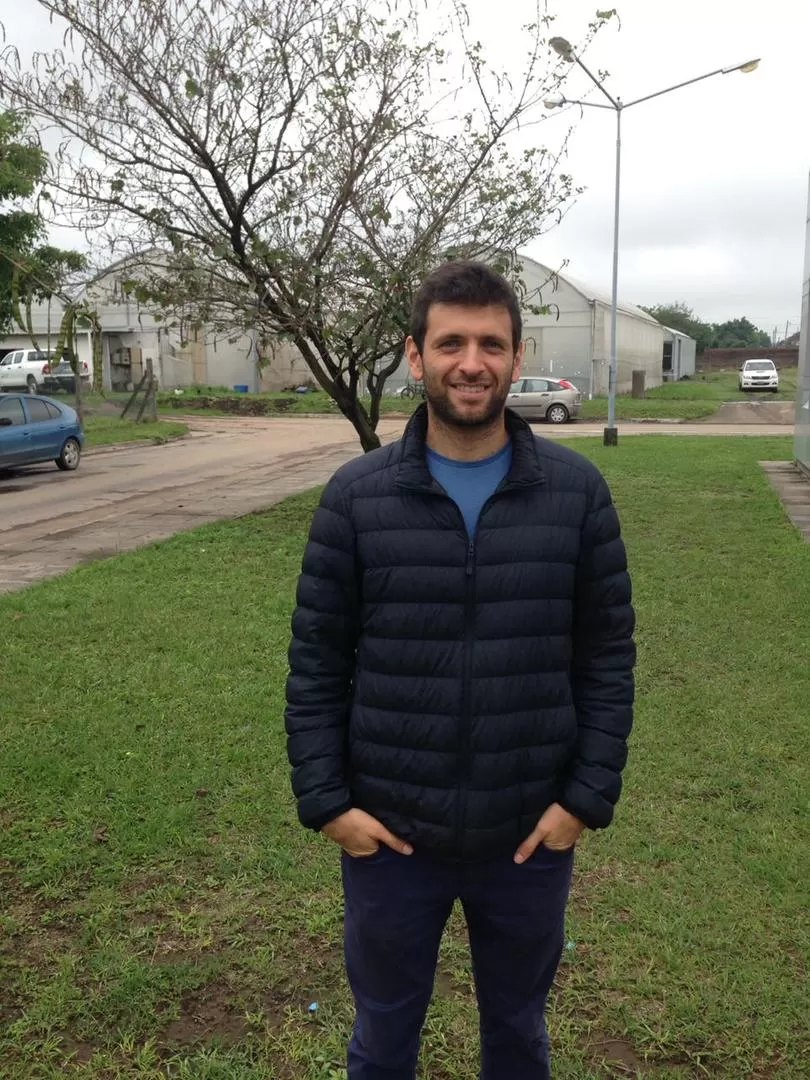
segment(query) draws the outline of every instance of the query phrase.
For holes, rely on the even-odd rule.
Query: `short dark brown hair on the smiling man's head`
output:
[[[505,278],[486,262],[445,262],[426,279],[410,311],[410,336],[421,353],[428,332],[428,312],[434,303],[460,308],[505,308],[512,320],[512,351],[517,352],[523,336],[523,319],[517,295]]]

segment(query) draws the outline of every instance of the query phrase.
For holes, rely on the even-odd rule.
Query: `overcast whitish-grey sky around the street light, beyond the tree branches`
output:
[[[623,113],[620,296],[681,300],[710,322],[747,315],[769,333],[798,328],[810,170],[807,0],[610,0],[621,16],[586,54],[625,102],[715,68],[761,57]],[[534,0],[469,0],[484,43],[525,53],[519,27]],[[603,6],[607,0],[603,0]],[[598,0],[552,0],[554,32],[577,42]],[[24,53],[58,43],[33,0],[0,0],[6,41]],[[566,93],[590,87],[571,69]],[[567,168],[585,188],[563,224],[529,254],[595,288],[610,288],[615,114],[554,113],[532,137],[554,144],[569,122]],[[556,127],[556,134],[555,134]],[[73,241],[75,242],[75,241]]]

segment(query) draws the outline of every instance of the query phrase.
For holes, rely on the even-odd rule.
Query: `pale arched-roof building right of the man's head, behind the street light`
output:
[[[556,273],[525,255],[521,274],[530,297],[551,313],[524,312],[527,375],[569,379],[590,396],[608,392],[610,369],[610,297],[568,274]],[[530,303],[530,299],[527,301]],[[658,320],[640,308],[620,302],[617,320],[617,392],[629,393],[633,372],[645,373],[645,383],[658,387],[664,378],[666,332]],[[687,338],[687,341],[690,339]],[[687,356],[688,348],[678,349]],[[693,355],[693,353],[692,353]],[[692,364],[692,370],[694,370]]]

